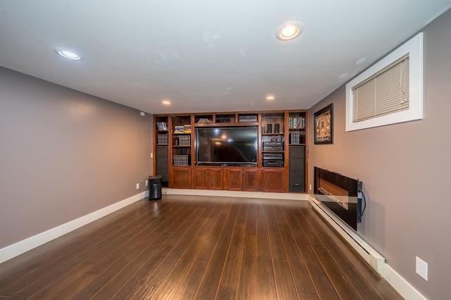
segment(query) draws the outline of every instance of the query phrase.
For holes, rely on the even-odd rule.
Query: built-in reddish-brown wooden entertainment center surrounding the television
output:
[[[307,115],[304,110],[154,115],[154,174],[161,175],[163,187],[175,189],[304,193]],[[197,128],[225,127],[257,128],[257,161],[196,161]]]

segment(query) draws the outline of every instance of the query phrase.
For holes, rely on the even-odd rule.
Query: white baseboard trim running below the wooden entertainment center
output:
[[[192,195],[192,196],[227,196],[259,199],[284,199],[284,200],[308,200],[307,194],[293,193],[268,193],[268,192],[239,192],[210,189],[171,189],[163,188],[162,194],[172,195]]]

